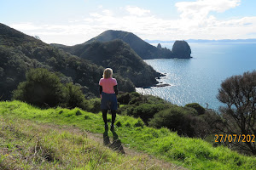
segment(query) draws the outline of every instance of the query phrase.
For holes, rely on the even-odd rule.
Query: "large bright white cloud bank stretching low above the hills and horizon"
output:
[[[13,27],[31,36],[37,35],[44,42],[67,45],[85,42],[106,30],[131,31],[143,39],[159,40],[250,38],[255,35],[256,16],[218,20],[210,14],[212,11],[224,12],[235,8],[239,3],[238,0],[177,3],[177,10],[180,12],[177,20],[162,19],[151,14],[148,9],[126,6],[115,13],[101,8],[83,20],[67,25],[34,26],[26,23]],[[129,13],[124,13],[126,10]]]

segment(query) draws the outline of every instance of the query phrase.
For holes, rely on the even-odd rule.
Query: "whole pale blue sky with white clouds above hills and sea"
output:
[[[0,0],[0,23],[47,43],[103,31],[148,40],[256,38],[256,0]]]

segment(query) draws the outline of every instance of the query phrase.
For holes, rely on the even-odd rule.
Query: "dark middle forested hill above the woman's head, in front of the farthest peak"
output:
[[[115,73],[129,78],[136,87],[152,86],[157,83],[155,77],[160,77],[160,73],[154,71],[127,43],[119,39],[86,43],[69,52],[96,65],[113,68]]]

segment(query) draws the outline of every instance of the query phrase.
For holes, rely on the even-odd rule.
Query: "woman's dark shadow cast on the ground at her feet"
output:
[[[111,132],[113,133],[113,143],[110,142],[108,137],[108,128],[105,128],[105,132],[103,133],[103,144],[107,145],[112,150],[116,150],[122,154],[125,154],[125,150],[122,146],[118,134],[114,132],[114,129]]]

